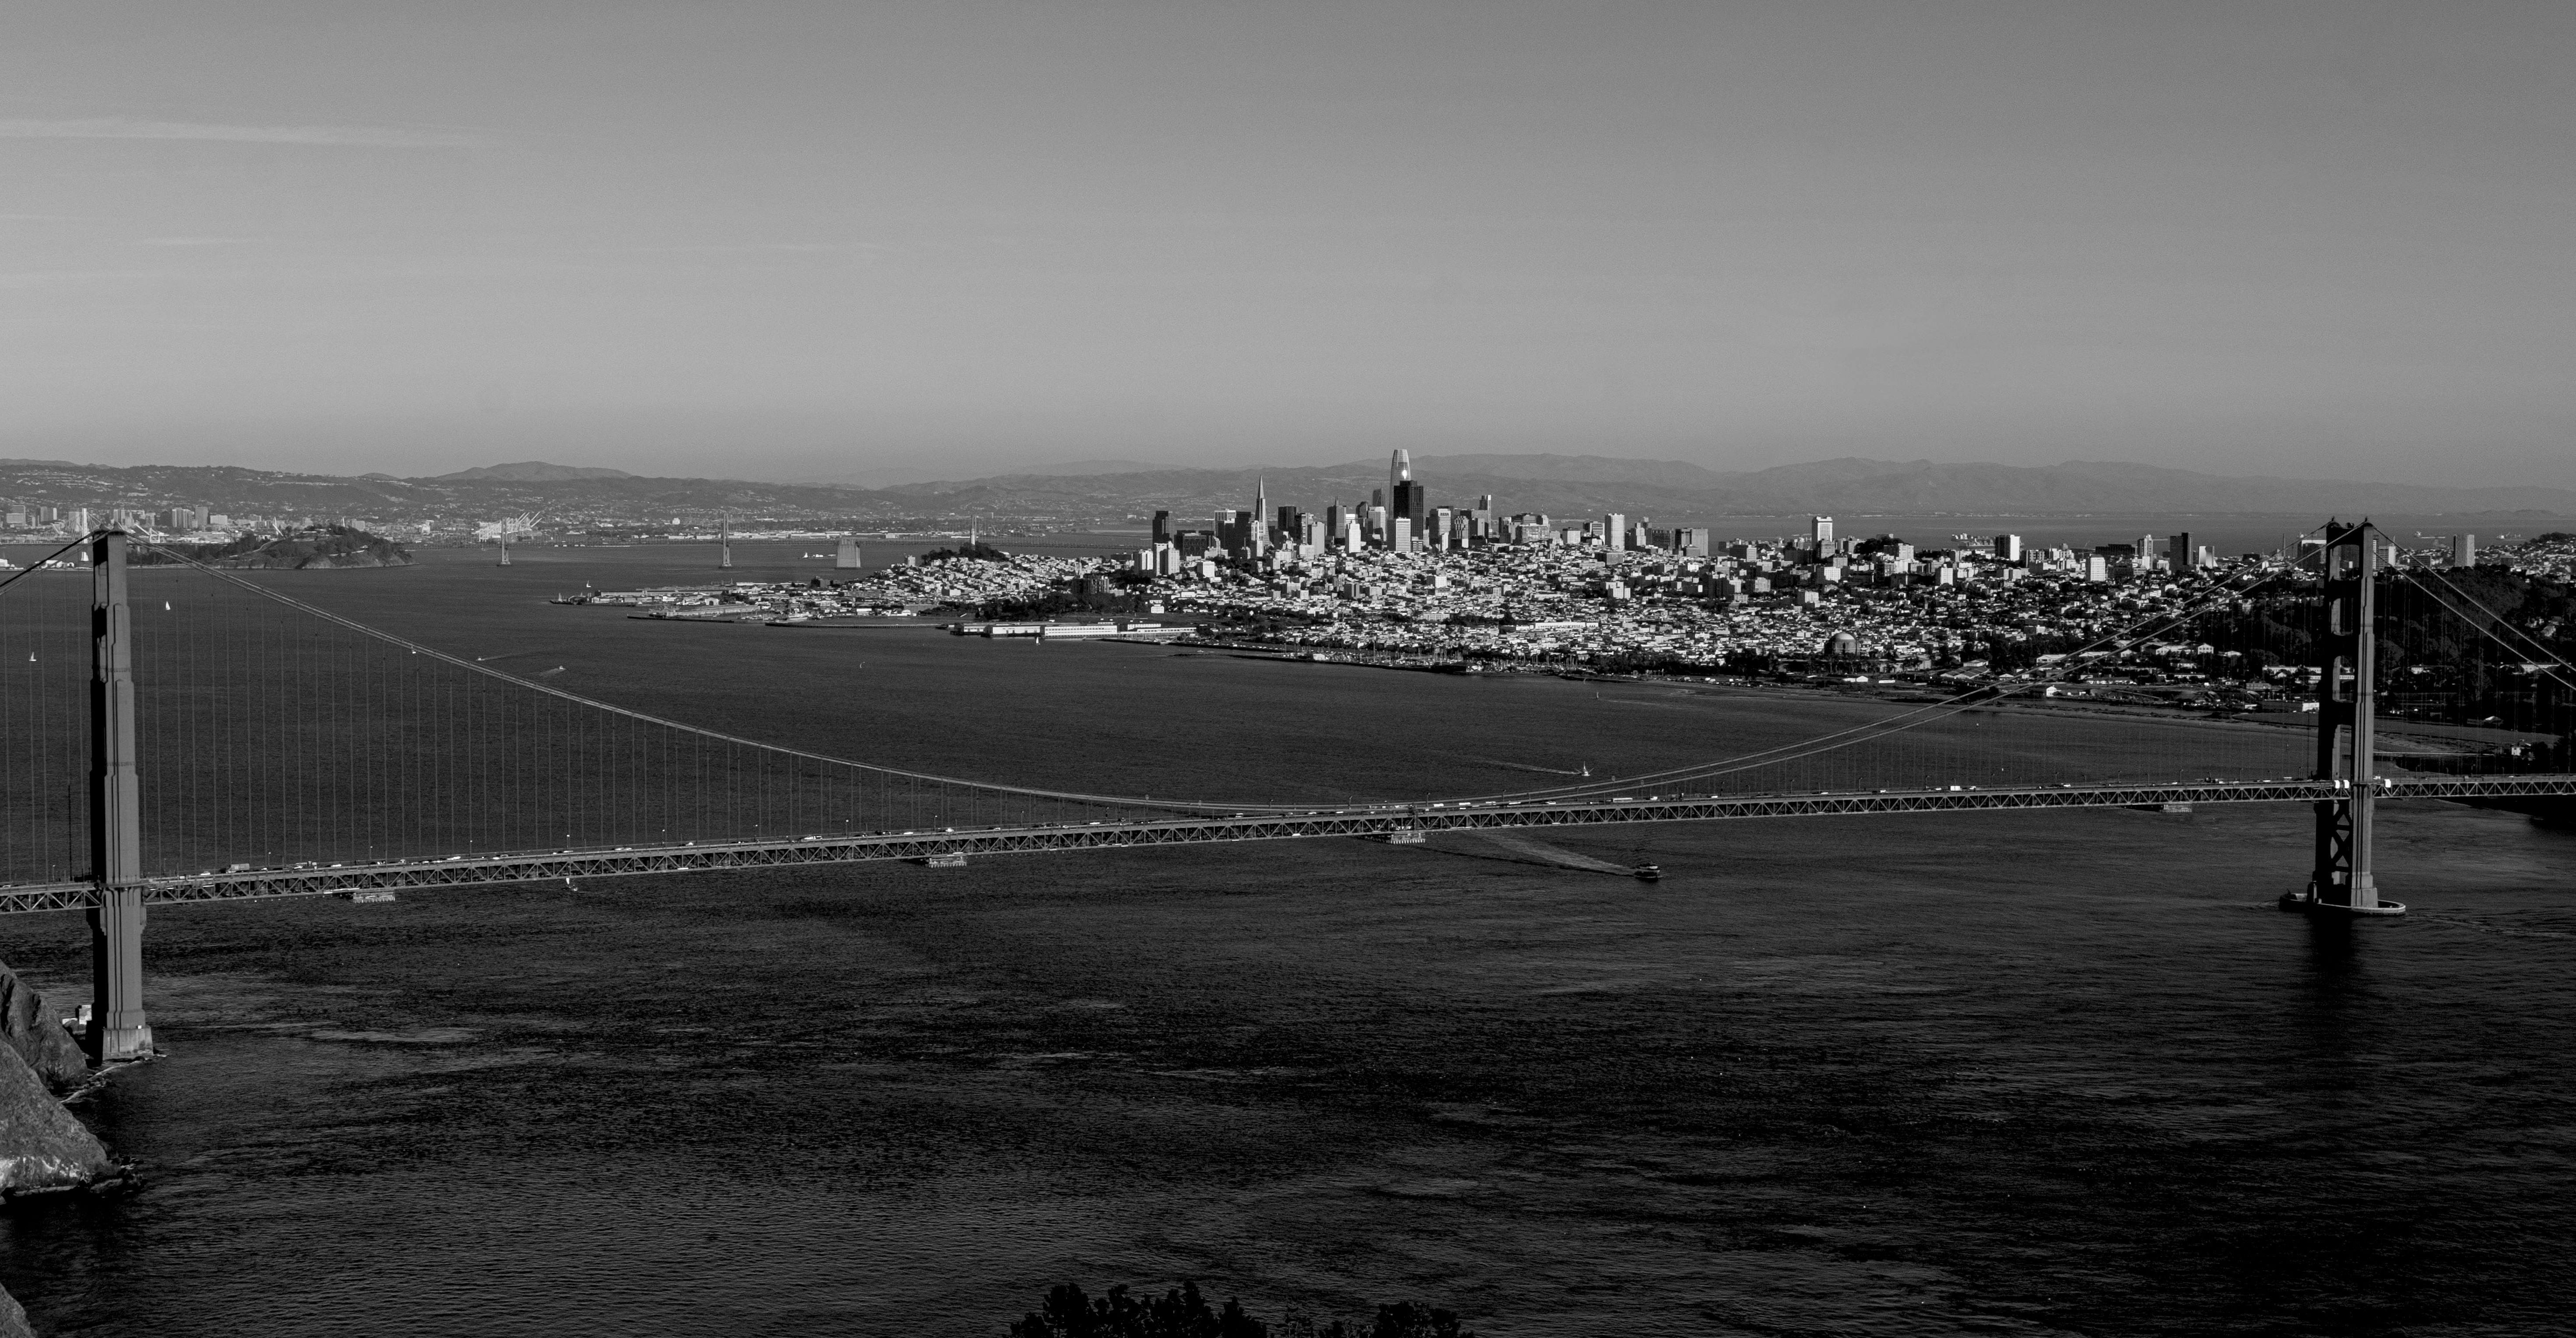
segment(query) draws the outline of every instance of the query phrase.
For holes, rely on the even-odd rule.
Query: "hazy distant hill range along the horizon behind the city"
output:
[[[2566,487],[2424,487],[2349,480],[2226,477],[2151,464],[2069,461],[1935,464],[1824,459],[1775,469],[1705,469],[1662,459],[1453,454],[1419,456],[1414,477],[1432,505],[1473,505],[1492,492],[1507,513],[1597,516],[1620,510],[1667,523],[1721,516],[2576,516]],[[1275,505],[1365,503],[1386,485],[1386,461],[1293,469],[1172,469],[1079,461],[979,480],[837,487],[752,480],[639,477],[546,461],[492,464],[453,474],[281,474],[234,467],[100,467],[0,461],[0,498],[88,508],[170,503],[260,516],[629,516],[703,521],[732,513],[814,521],[992,518],[1023,523],[1121,523],[1154,510],[1198,521],[1249,508],[1255,480]]]

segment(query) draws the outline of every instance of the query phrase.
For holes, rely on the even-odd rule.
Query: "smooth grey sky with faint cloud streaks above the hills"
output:
[[[2576,485],[2550,3],[0,13],[0,456]]]

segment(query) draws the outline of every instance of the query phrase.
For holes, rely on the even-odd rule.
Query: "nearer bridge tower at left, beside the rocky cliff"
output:
[[[134,616],[126,534],[90,541],[90,1036],[93,1062],[152,1054],[144,1018],[142,773],[134,761]]]

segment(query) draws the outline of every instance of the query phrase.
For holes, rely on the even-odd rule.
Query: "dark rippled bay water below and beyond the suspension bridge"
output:
[[[278,580],[1103,789],[1497,789],[1808,709],[544,603],[680,557]],[[2269,907],[2308,835],[2259,807],[165,907],[167,1057],[88,1109],[149,1188],[15,1209],[0,1258],[46,1333],[989,1335],[1180,1276],[1489,1335],[2563,1330],[2576,838],[2383,812],[2416,913],[2367,926]],[[82,987],[67,915],[0,954]]]

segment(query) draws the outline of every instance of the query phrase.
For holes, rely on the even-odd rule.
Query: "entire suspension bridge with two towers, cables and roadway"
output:
[[[88,913],[98,1062],[152,1052],[152,905],[611,874],[1479,828],[2313,804],[2316,858],[2306,892],[2285,902],[2391,915],[2403,907],[2380,897],[2372,871],[2378,802],[2576,797],[2576,763],[2553,753],[2550,768],[2481,768],[2468,763],[2486,753],[2452,750],[2385,766],[2383,601],[2411,601],[2411,634],[2439,621],[2458,645],[2535,668],[2527,724],[2566,732],[2576,670],[2439,572],[2383,567],[2372,526],[2334,523],[2300,565],[2141,611],[2105,632],[2102,650],[2022,683],[1875,704],[1860,724],[1649,773],[1319,804],[1002,784],[708,730],[98,531],[0,583],[0,913]],[[2045,696],[2092,655],[2210,619],[2295,645],[2311,709],[2272,722],[2076,714]]]

